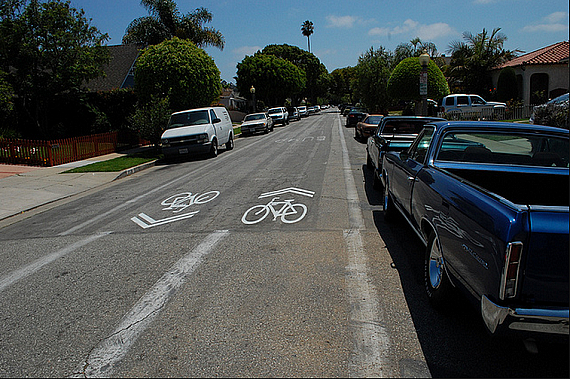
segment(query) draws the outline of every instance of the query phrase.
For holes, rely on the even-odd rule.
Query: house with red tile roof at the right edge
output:
[[[501,69],[512,67],[517,75],[519,97],[525,105],[543,103],[568,92],[569,43],[562,41],[516,57],[495,68],[491,75],[493,84]],[[537,94],[544,94],[544,97]]]

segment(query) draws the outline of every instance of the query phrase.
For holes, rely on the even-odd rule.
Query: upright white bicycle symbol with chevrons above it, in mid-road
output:
[[[285,224],[293,224],[301,221],[307,214],[307,206],[305,204],[293,203],[293,199],[279,201],[279,196],[275,196],[285,193],[296,193],[308,197],[313,197],[315,194],[312,191],[299,188],[286,188],[280,191],[261,194],[259,199],[272,197],[271,201],[267,204],[254,205],[249,208],[243,214],[241,222],[246,225],[257,224],[258,222],[265,220],[270,213],[273,216],[273,221],[276,221],[278,218],[280,218],[281,222]]]

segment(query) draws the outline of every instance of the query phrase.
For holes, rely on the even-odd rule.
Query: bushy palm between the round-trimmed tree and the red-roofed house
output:
[[[462,90],[485,96],[493,88],[490,69],[515,57],[516,51],[505,50],[507,36],[495,28],[479,34],[463,33],[463,42],[449,45],[451,64],[449,75],[461,83]]]

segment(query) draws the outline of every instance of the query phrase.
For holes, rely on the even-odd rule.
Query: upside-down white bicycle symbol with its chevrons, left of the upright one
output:
[[[220,194],[219,191],[205,192],[201,195],[193,194],[192,192],[182,192],[163,200],[160,203],[160,205],[166,207],[162,209],[163,211],[172,211],[172,213],[179,213],[193,204],[204,204],[207,203],[208,201],[212,201],[216,197],[218,197],[219,194]],[[137,216],[132,217],[131,221],[133,221],[135,224],[137,224],[143,229],[148,229],[154,226],[164,225],[174,221],[184,220],[193,217],[196,213],[199,212],[200,211],[192,211],[192,212],[177,214],[176,216],[163,218],[161,220],[155,220],[144,213],[139,213]]]

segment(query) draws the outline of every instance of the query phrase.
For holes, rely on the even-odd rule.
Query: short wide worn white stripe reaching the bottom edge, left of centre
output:
[[[139,335],[160,313],[170,297],[184,284],[186,278],[209,254],[216,244],[229,234],[218,230],[208,235],[200,245],[182,257],[123,317],[115,331],[104,339],[81,366],[85,377],[110,377],[116,364],[123,359]]]

